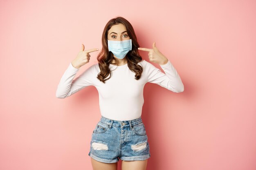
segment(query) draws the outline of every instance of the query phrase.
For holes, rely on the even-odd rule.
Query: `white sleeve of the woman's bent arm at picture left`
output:
[[[67,70],[61,77],[61,80],[58,84],[56,90],[56,97],[64,99],[70,95],[82,90],[86,86],[92,86],[95,71],[95,64],[87,68],[79,77],[74,79],[76,73],[79,71],[79,68],[75,68],[72,63],[69,64]],[[74,80],[73,80],[74,79]]]

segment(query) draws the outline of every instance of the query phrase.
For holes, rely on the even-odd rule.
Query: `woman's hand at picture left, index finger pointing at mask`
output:
[[[77,54],[76,58],[72,61],[72,65],[74,66],[74,68],[80,68],[81,66],[89,62],[91,57],[89,53],[98,51],[98,50],[99,49],[84,50],[84,45],[82,44],[82,49]]]

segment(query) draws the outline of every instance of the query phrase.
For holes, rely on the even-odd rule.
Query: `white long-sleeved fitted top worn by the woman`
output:
[[[124,121],[141,116],[144,104],[143,89],[147,82],[158,84],[176,93],[184,91],[182,80],[169,60],[166,64],[160,65],[164,73],[146,60],[141,60],[138,64],[143,68],[139,80],[135,79],[135,73],[130,71],[128,64],[110,64],[112,75],[104,84],[97,79],[100,72],[98,64],[93,64],[74,79],[79,68],[70,63],[58,84],[56,97],[63,99],[87,86],[95,86],[99,93],[101,115],[108,119]]]

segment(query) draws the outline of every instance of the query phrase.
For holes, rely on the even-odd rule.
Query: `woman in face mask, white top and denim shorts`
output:
[[[143,88],[147,82],[180,93],[184,85],[179,74],[153,43],[152,49],[139,48],[135,31],[125,18],[111,19],[102,34],[102,50],[97,60],[79,77],[74,76],[90,61],[91,52],[82,50],[69,64],[56,91],[56,97],[68,97],[87,86],[99,92],[101,119],[92,132],[89,156],[94,170],[145,170],[150,158],[148,137],[141,119]],[[142,60],[139,51],[148,51],[150,62],[159,64],[165,73]]]

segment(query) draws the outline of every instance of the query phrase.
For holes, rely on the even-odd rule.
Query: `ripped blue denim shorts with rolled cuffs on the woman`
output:
[[[150,158],[148,136],[141,117],[117,121],[101,116],[92,132],[88,155],[104,163]]]

